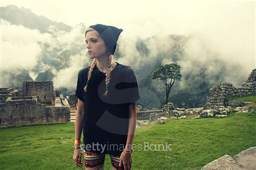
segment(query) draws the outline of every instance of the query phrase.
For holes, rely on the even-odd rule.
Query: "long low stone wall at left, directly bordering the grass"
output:
[[[0,103],[0,125],[22,125],[70,121],[70,107],[46,107],[36,96],[8,97]]]

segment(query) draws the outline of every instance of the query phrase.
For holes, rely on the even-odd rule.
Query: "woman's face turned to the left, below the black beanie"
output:
[[[86,33],[85,43],[87,44],[86,47],[90,58],[98,58],[105,55],[106,45],[96,30]]]

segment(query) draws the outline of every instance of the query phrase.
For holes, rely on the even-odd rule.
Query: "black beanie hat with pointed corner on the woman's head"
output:
[[[111,55],[113,55],[117,47],[118,37],[120,33],[123,31],[123,29],[118,29],[114,26],[103,24],[91,25],[89,26],[89,28],[93,28],[99,33],[100,37],[104,40],[104,43],[109,49],[109,52],[111,53]]]

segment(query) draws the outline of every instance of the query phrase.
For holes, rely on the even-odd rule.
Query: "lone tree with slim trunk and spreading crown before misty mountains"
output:
[[[171,87],[175,80],[181,81],[180,66],[176,63],[161,65],[157,70],[152,73],[152,79],[164,80],[166,89],[166,100],[167,105]],[[167,79],[171,79],[170,83],[167,84]]]

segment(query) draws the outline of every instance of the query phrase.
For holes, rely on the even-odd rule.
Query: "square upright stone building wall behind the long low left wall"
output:
[[[52,81],[23,81],[25,96],[36,96],[41,103],[54,104],[55,91]]]

